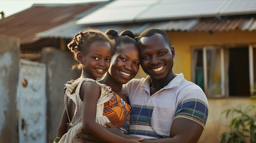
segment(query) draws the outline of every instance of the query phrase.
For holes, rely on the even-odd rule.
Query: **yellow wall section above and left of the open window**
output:
[[[256,43],[256,32],[167,32],[175,49],[174,73],[183,73],[192,80],[191,47],[203,45],[235,45]]]

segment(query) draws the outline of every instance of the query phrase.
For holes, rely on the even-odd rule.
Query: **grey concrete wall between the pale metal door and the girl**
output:
[[[53,142],[64,110],[64,83],[80,77],[81,71],[71,70],[75,60],[69,51],[44,48],[42,62],[47,65],[47,142]]]

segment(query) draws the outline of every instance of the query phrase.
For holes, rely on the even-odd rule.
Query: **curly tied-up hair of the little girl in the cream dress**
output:
[[[107,36],[105,36],[104,33],[100,30],[87,29],[84,32],[77,33],[72,39],[72,41],[69,42],[69,44],[67,44],[67,48],[70,49],[70,51],[74,55],[75,60],[78,61],[78,58],[76,57],[78,52],[81,52],[83,55],[86,55],[87,50],[91,47],[92,43],[94,42],[109,42],[110,45],[112,45],[110,39]],[[75,64],[72,67],[72,69],[76,68],[81,69],[81,65]]]

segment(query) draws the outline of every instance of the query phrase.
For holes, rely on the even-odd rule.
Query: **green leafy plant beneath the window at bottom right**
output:
[[[256,143],[256,102],[248,105],[242,110],[242,105],[232,107],[221,112],[226,113],[226,119],[232,117],[232,121],[228,126],[230,132],[221,134],[221,143],[246,142],[246,138],[251,143]]]

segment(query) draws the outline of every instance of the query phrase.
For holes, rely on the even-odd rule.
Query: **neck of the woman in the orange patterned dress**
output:
[[[98,82],[110,86],[114,92],[120,92],[122,90],[122,83],[116,82],[108,71],[106,76],[104,76],[103,79],[99,80]]]

